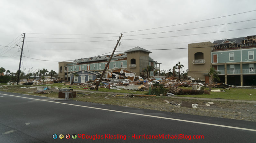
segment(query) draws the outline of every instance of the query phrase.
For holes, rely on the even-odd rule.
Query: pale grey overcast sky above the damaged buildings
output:
[[[190,43],[256,35],[256,28],[252,28],[256,27],[256,20],[252,20],[256,19],[255,6],[255,0],[0,0],[0,67],[14,73],[18,70],[20,51],[15,44],[22,47],[22,33],[26,33],[23,55],[40,59],[22,58],[21,70],[26,68],[27,73],[28,69],[34,72],[38,68],[58,72],[57,61],[112,52],[122,32],[124,37],[116,51],[136,46],[156,49],[149,56],[162,63],[161,69],[168,70],[178,61],[187,69],[187,49],[157,49],[187,48]],[[232,15],[236,13],[242,14]],[[227,17],[217,18],[222,16]],[[204,21],[183,24],[198,20]],[[226,24],[232,22],[238,23]],[[213,27],[200,28],[206,26]],[[185,30],[190,28],[196,29]],[[250,29],[235,30],[241,28]]]

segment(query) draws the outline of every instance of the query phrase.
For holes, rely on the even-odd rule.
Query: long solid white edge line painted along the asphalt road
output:
[[[2,93],[1,93],[1,94],[2,94]],[[55,101],[44,100],[44,99],[34,99],[34,98],[28,98],[28,97],[21,97],[21,96],[16,96],[16,95],[9,95],[9,94],[2,94],[2,95],[8,95],[8,96],[14,96],[14,97],[20,97],[20,98],[26,98],[26,99],[33,99],[33,100],[40,100],[40,101],[52,102],[52,103],[59,103],[59,104],[65,104],[65,105],[71,105],[71,106],[78,106],[78,107],[86,107],[86,108],[92,108],[92,109],[99,109],[99,110],[105,110],[105,111],[119,112],[119,113],[125,113],[125,114],[140,115],[140,116],[161,118],[161,119],[167,119],[167,120],[175,120],[175,121],[188,122],[188,123],[197,123],[197,124],[204,124],[204,125],[210,125],[210,126],[218,126],[218,127],[224,127],[224,128],[246,130],[246,131],[256,131],[256,130],[254,130],[254,129],[239,128],[239,127],[218,125],[218,124],[212,124],[212,123],[195,122],[195,121],[181,120],[181,119],[174,119],[174,118],[167,118],[167,117],[160,117],[160,116],[153,116],[153,115],[145,115],[145,114],[138,114],[138,113],[124,112],[124,111],[103,109],[103,108],[97,108],[97,107],[89,107],[89,106],[75,105],[75,104],[69,104],[69,103],[61,103],[61,102],[55,102]]]

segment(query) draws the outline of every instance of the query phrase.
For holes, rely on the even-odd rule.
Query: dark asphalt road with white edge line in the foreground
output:
[[[256,123],[0,91],[0,142],[256,142]]]

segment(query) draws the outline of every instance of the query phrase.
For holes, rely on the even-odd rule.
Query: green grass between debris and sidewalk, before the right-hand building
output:
[[[182,87],[182,89],[191,89],[191,87]],[[209,90],[209,88],[205,88],[205,89]],[[177,95],[177,96],[256,101],[255,89],[242,89],[242,88],[230,88],[230,89],[212,88],[212,89],[220,89],[221,91],[224,90],[225,92],[210,92],[210,95],[202,94],[202,95]]]

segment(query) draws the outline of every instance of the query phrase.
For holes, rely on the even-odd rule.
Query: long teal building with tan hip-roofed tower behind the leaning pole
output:
[[[114,54],[107,69],[112,68],[126,68],[136,73],[136,75],[142,75],[142,69],[147,66],[153,66],[160,73],[160,64],[149,57],[150,51],[141,47],[135,47],[124,53]],[[59,62],[59,78],[62,80],[70,81],[70,73],[88,70],[95,73],[103,71],[107,65],[111,55],[97,56],[91,58],[84,58],[74,60],[73,62]],[[157,67],[158,65],[158,67]],[[153,76],[153,71],[150,73]]]

